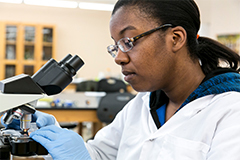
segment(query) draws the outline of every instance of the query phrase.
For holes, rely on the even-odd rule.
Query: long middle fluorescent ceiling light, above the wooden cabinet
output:
[[[63,8],[77,8],[78,3],[74,1],[59,1],[59,0],[24,0],[25,4],[49,6],[49,7],[63,7]]]

